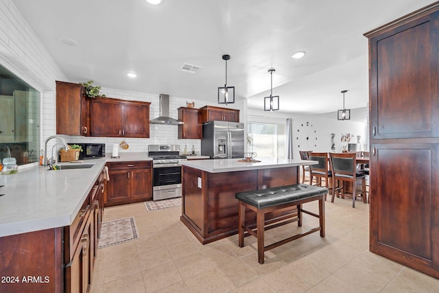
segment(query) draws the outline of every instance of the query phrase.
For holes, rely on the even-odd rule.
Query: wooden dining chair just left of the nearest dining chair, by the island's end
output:
[[[312,183],[313,178],[316,177],[316,184],[320,187],[329,188],[329,180],[332,180],[332,172],[329,167],[329,156],[327,152],[308,152],[310,161],[318,161],[316,165],[309,165],[309,180]],[[324,185],[322,184],[324,180]],[[312,185],[312,184],[311,184]],[[332,188],[331,188],[332,191]],[[332,193],[333,194],[333,193]],[[333,194],[334,197],[334,194]],[[331,200],[333,202],[333,199]]]

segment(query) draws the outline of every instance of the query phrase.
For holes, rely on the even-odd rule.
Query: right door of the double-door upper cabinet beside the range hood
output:
[[[121,103],[123,137],[150,137],[150,110],[147,104]]]

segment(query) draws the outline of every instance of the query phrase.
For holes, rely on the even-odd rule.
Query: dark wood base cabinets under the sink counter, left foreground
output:
[[[0,237],[0,292],[90,292],[103,178],[70,226]]]

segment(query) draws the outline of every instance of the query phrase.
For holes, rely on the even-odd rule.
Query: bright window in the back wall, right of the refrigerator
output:
[[[285,158],[285,125],[248,122],[248,138],[247,150],[259,158]]]

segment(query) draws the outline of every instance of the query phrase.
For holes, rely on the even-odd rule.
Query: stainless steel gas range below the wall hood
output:
[[[178,198],[181,196],[180,145],[148,145],[148,156],[152,158],[152,200]]]

